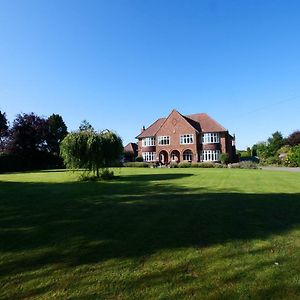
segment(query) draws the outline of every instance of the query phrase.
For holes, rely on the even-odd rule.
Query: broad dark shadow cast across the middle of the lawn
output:
[[[0,182],[0,251],[26,251],[3,274],[48,264],[143,258],[157,250],[266,238],[300,223],[299,194],[183,188],[189,174],[123,176],[113,182]]]

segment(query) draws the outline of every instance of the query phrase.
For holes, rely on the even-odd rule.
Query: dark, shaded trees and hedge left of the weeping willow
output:
[[[11,126],[0,111],[0,172],[63,167],[60,143],[68,134],[58,114],[18,114]]]

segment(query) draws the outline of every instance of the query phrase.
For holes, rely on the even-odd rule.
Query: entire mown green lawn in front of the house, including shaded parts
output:
[[[0,175],[0,299],[299,299],[300,173]]]

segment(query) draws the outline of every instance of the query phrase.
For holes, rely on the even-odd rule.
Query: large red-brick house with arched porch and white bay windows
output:
[[[136,138],[138,155],[147,162],[218,162],[221,153],[235,159],[235,138],[203,113],[183,116],[174,109],[167,118],[143,127]]]

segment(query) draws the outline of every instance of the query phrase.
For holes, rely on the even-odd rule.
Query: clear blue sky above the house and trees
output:
[[[300,129],[300,2],[0,0],[0,110],[135,141],[172,109],[237,148]]]

